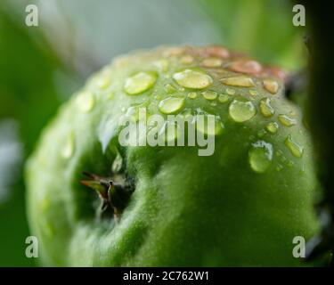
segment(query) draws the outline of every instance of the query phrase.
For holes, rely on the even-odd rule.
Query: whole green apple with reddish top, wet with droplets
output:
[[[305,265],[293,240],[319,231],[316,180],[284,78],[222,46],[132,53],[91,77],[27,166],[43,263]],[[191,119],[161,132],[171,115]]]

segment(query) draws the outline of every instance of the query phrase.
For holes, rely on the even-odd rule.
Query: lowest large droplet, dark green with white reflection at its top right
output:
[[[273,160],[273,145],[265,141],[252,143],[248,152],[250,167],[257,173],[264,173]]]

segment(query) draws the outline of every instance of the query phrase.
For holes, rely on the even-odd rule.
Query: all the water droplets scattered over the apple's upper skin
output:
[[[173,51],[170,51],[173,52]],[[177,53],[176,53],[177,52]],[[178,54],[178,51],[175,51]],[[191,55],[183,55],[179,62],[183,65],[191,65],[195,61],[194,57]],[[223,60],[220,57],[210,56],[203,59],[200,62],[200,66],[208,69],[221,68],[223,65]],[[258,91],[252,89],[257,86],[257,81],[253,77],[248,77],[247,74],[256,74],[261,71],[262,67],[257,61],[235,61],[229,64],[228,69],[239,72],[239,74],[234,74],[229,77],[220,78],[219,81],[225,86],[224,92],[216,92],[209,90],[210,86],[214,84],[214,78],[209,75],[205,70],[198,68],[184,68],[173,72],[171,76],[167,74],[170,67],[170,62],[167,59],[160,59],[154,61],[154,66],[156,70],[143,70],[132,74],[127,77],[123,89],[124,92],[129,96],[138,96],[144,94],[145,92],[153,89],[159,80],[159,73],[170,77],[173,82],[164,85],[165,95],[155,95],[155,99],[159,102],[157,103],[158,109],[161,113],[169,114],[180,114],[184,118],[189,115],[195,114],[208,114],[207,112],[193,112],[190,109],[185,109],[186,100],[196,100],[198,98],[204,98],[210,103],[211,106],[216,106],[218,103],[225,104],[230,102],[228,105],[229,117],[236,123],[246,122],[257,115],[257,110],[264,117],[271,119],[265,126],[265,128],[260,129],[257,133],[259,138],[265,136],[265,134],[276,134],[280,129],[280,124],[273,120],[275,115],[275,110],[272,106],[272,99],[270,97],[265,97],[259,100],[258,106],[255,105],[254,99],[258,95]],[[240,75],[241,73],[241,75]],[[272,78],[261,79],[262,86],[269,93],[269,96],[277,94],[280,88],[279,83]],[[106,89],[110,86],[110,78],[103,76],[96,81],[96,85],[100,89]],[[248,94],[250,99],[246,99],[242,96],[236,96],[238,92],[236,88],[248,88]],[[189,90],[189,92],[184,92],[184,90]],[[182,91],[182,94],[178,94]],[[253,102],[252,102],[253,101]],[[94,94],[89,91],[84,91],[77,95],[77,108],[83,113],[88,113],[94,109],[95,99]],[[126,109],[126,116],[133,118],[135,121],[138,120],[138,109],[146,108],[147,104],[137,104],[135,106],[130,106]],[[258,109],[257,109],[258,108]],[[196,117],[196,116],[195,116]],[[277,116],[278,121],[281,126],[291,127],[297,124],[295,118],[291,118],[286,114],[279,114]],[[167,126],[164,126],[167,127]],[[168,126],[169,127],[169,126]],[[172,126],[176,127],[177,126]],[[205,134],[221,134],[224,129],[224,124],[221,119],[216,116],[215,127],[213,129],[203,128],[197,126],[198,131]],[[168,138],[168,139],[175,139]],[[303,148],[297,144],[289,134],[285,141],[285,146],[289,149],[290,153],[296,157],[301,158],[303,155]],[[66,142],[63,145],[61,155],[63,159],[69,159],[74,153],[75,137],[73,133],[69,134]],[[281,151],[276,151],[277,157],[279,157],[281,162],[285,159]],[[252,170],[257,173],[264,173],[272,164],[273,161],[273,145],[264,140],[258,140],[257,142],[251,143],[248,151],[248,162]],[[288,161],[288,165],[292,166],[293,162]],[[281,164],[276,167],[277,171],[282,168]]]

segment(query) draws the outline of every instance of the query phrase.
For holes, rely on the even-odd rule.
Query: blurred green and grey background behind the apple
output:
[[[28,4],[37,5],[37,27],[25,24]],[[304,31],[292,25],[292,6],[284,0],[1,0],[0,266],[37,265],[25,256],[24,161],[86,77],[120,53],[181,44],[222,44],[302,69]]]

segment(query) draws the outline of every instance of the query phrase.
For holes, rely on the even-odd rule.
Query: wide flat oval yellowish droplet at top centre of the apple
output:
[[[203,89],[211,85],[213,82],[208,74],[193,69],[184,69],[181,72],[176,72],[173,75],[173,78],[179,85],[192,89]]]

